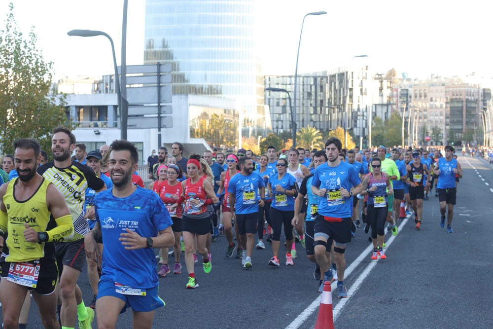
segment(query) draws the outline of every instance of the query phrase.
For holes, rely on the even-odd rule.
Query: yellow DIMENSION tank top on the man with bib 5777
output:
[[[24,223],[37,232],[47,231],[55,227],[55,219],[46,206],[46,189],[50,182],[43,178],[41,185],[34,195],[26,201],[17,201],[14,197],[17,178],[8,183],[7,191],[3,196],[3,204],[7,208],[8,225],[6,245],[8,255],[6,261],[31,261],[54,254],[52,242],[34,243],[24,239]]]

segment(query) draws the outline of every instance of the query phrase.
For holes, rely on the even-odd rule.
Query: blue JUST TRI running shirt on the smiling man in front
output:
[[[101,279],[132,288],[157,287],[154,249],[126,250],[118,239],[127,228],[142,237],[156,237],[158,231],[171,226],[173,221],[163,201],[154,191],[137,186],[126,198],[117,198],[110,190],[98,193],[94,206],[105,246]]]

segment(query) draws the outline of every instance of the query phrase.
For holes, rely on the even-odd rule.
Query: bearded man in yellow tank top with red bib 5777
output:
[[[73,234],[69,208],[57,188],[36,173],[40,146],[35,139],[15,143],[18,179],[0,187],[0,301],[3,328],[19,328],[21,306],[32,291],[45,328],[58,328],[58,268],[53,241]]]

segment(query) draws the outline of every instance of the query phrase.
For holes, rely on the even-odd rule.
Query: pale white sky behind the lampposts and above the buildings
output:
[[[100,30],[115,43],[120,65],[123,0],[11,0],[20,28],[35,27],[55,77],[111,74],[105,37],[69,37],[72,29]],[[8,12],[0,2],[0,26]],[[128,0],[127,65],[143,62],[145,0]],[[303,16],[298,73],[369,65],[408,77],[493,77],[489,1],[257,0],[256,51],[263,74],[294,74]],[[0,28],[1,29],[1,28]],[[367,55],[352,60],[353,56]]]

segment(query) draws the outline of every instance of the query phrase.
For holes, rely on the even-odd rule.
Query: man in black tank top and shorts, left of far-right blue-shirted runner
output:
[[[423,198],[424,198],[424,174],[427,177],[430,176],[428,166],[421,163],[421,151],[413,151],[413,163],[410,163],[406,167],[407,175],[409,178],[409,197],[411,199],[411,206],[414,210],[414,222],[415,228],[421,229],[421,217],[423,215]],[[427,184],[429,182],[426,182]]]

